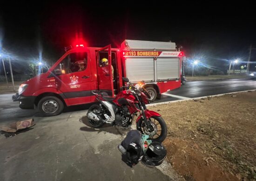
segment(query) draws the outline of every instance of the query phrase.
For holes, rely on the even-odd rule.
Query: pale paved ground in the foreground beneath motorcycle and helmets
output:
[[[33,116],[34,127],[13,137],[0,135],[0,181],[181,180],[167,163],[169,167],[148,168],[140,162],[130,168],[117,149],[130,129],[111,124],[91,128],[86,113]]]

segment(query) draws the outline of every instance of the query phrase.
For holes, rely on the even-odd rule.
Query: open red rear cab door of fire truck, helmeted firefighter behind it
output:
[[[99,91],[104,91],[107,92],[109,96],[114,96],[111,45],[107,45],[97,51],[97,60]]]

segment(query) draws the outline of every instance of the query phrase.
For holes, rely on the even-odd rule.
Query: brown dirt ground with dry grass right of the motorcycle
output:
[[[167,160],[187,181],[256,180],[256,91],[157,105]]]

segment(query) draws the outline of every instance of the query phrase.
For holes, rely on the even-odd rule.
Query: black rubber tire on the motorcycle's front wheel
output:
[[[151,123],[156,124],[156,126],[158,125],[157,123],[154,123],[152,121],[152,118],[158,121],[158,124],[160,124],[161,126],[161,134],[158,135],[154,135],[154,136],[158,136],[155,137],[154,136],[149,136],[149,139],[152,140],[152,142],[163,142],[167,136],[167,125],[165,123],[165,121],[163,120],[163,118],[161,116],[152,116],[150,117]],[[145,123],[143,122],[143,118],[141,117],[141,119],[137,122],[137,130],[141,131],[142,134],[144,135],[148,135],[143,129],[143,127],[145,127]],[[158,132],[159,130],[157,130]],[[157,132],[155,134],[157,134]]]

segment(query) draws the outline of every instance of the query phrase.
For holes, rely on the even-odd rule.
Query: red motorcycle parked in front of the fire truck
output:
[[[128,78],[122,78],[129,82]],[[98,104],[92,105],[87,112],[89,123],[94,128],[100,128],[104,123],[129,128],[134,116],[140,115],[136,120],[136,127],[142,134],[148,135],[152,141],[162,142],[167,136],[167,126],[161,115],[155,111],[147,110],[150,96],[144,88],[137,88],[134,84],[123,87],[115,98],[107,97],[107,93],[93,92]]]

